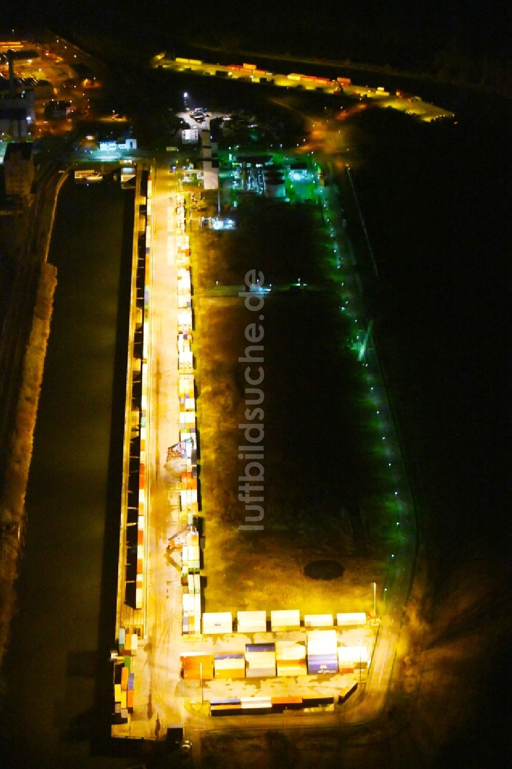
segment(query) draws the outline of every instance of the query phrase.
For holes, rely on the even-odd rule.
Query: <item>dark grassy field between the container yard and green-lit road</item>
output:
[[[314,175],[308,203],[241,192],[238,230],[199,235],[205,611],[369,611],[372,583],[382,589],[401,537],[392,438],[361,357],[365,329],[354,316],[349,260],[331,237],[319,189]],[[261,313],[238,298],[254,268],[272,285]],[[249,460],[238,458],[246,444],[238,424],[255,406],[245,404],[247,363],[238,358],[254,322],[264,329],[264,361],[251,366],[264,369],[264,529],[240,531],[246,513],[238,478]],[[305,576],[318,560],[341,564],[341,578]]]

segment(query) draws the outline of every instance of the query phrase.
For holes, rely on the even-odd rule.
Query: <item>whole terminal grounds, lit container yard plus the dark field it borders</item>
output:
[[[326,214],[242,199],[241,228],[212,236],[165,186],[150,171],[138,196],[116,736],[147,733],[148,699],[180,723],[342,704],[366,681],[394,531]]]

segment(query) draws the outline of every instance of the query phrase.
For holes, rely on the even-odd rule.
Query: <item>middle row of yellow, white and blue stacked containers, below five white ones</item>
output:
[[[214,678],[273,678],[284,676],[348,674],[370,665],[366,646],[338,646],[331,631],[308,631],[304,641],[271,641],[245,644],[245,651],[181,654],[185,680]]]

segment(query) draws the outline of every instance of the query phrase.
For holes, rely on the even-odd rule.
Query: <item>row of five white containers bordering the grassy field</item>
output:
[[[361,628],[367,624],[365,611],[340,612],[336,614],[338,628]],[[234,628],[233,614],[231,611],[204,612],[203,634],[220,635],[233,633],[265,633],[293,631],[301,628],[334,628],[334,614],[304,614],[301,621],[299,609],[278,609],[271,611],[270,622],[267,620],[267,612],[262,611],[238,611],[236,628]]]

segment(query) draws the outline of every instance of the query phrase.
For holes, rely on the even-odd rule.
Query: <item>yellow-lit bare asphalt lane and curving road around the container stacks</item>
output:
[[[221,719],[212,723],[201,711],[201,699],[211,697],[254,697],[286,696],[293,694],[333,694],[334,697],[354,681],[354,674],[337,674],[328,678],[304,676],[298,679],[269,678],[255,682],[251,679],[229,681],[205,681],[203,690],[198,681],[183,681],[180,677],[180,654],[185,651],[215,653],[218,651],[243,651],[246,642],[271,641],[272,634],[258,634],[258,638],[248,638],[242,634],[224,636],[199,636],[184,638],[181,635],[181,555],[179,551],[169,554],[166,551],[168,537],[179,531],[183,517],[179,511],[178,489],[180,475],[176,466],[166,464],[167,448],[178,441],[179,437],[179,401],[178,401],[178,265],[177,236],[178,221],[176,203],[178,194],[177,174],[170,174],[168,165],[159,165],[153,171],[154,198],[152,201],[152,241],[151,241],[151,345],[149,349],[150,400],[148,408],[149,446],[148,446],[148,554],[147,554],[147,638],[139,645],[134,660],[136,697],[134,713],[128,724],[114,727],[113,734],[118,736],[145,737],[155,739],[165,737],[169,726],[184,725],[185,735],[199,743],[204,729],[226,730],[234,727],[231,719]],[[344,291],[347,296],[345,312],[355,321],[356,315],[364,317],[361,311],[361,286],[354,279],[351,268],[351,245],[341,225],[338,206],[331,188],[322,191],[326,206],[327,226],[334,232],[334,248],[341,248],[341,267],[345,275]],[[187,195],[188,197],[188,195]],[[148,201],[149,203],[149,201]],[[188,208],[188,228],[190,227]],[[188,230],[188,235],[190,231]],[[192,261],[198,258],[195,253],[194,239],[191,241]],[[357,278],[357,275],[355,275]],[[192,273],[192,283],[194,275]],[[200,307],[198,292],[194,293],[193,305],[197,313]],[[357,328],[357,327],[356,327]],[[399,455],[391,444],[395,443],[394,427],[387,409],[387,398],[381,384],[378,361],[373,347],[367,348],[367,382],[371,397],[380,414],[383,431],[386,433],[385,452],[389,458]],[[201,425],[199,425],[199,428]],[[391,453],[390,453],[391,452]],[[176,464],[176,461],[173,461]],[[179,461],[178,461],[179,463]],[[185,469],[185,464],[184,468]],[[397,481],[399,468],[393,467]],[[397,486],[400,488],[400,486]],[[402,490],[401,490],[402,494]],[[406,503],[407,504],[407,503]],[[407,517],[411,508],[399,521],[407,530]],[[397,523],[398,524],[398,523]],[[404,525],[405,524],[405,525]],[[411,534],[411,531],[408,532]],[[406,534],[406,531],[404,531]],[[381,628],[374,650],[374,658],[367,678],[364,697],[357,697],[347,708],[331,714],[315,714],[311,724],[319,723],[357,723],[375,717],[384,704],[391,681],[394,654],[400,633],[401,618],[411,578],[413,561],[412,538],[404,536],[401,544],[393,548],[391,568],[387,578],[387,588],[381,599]],[[369,649],[372,649],[369,628],[351,631],[351,643],[357,644],[361,635]],[[368,635],[367,635],[368,634]],[[281,638],[303,640],[304,631],[280,634]],[[348,639],[344,639],[345,642]],[[200,712],[201,711],[201,712]],[[296,714],[278,717],[250,716],[237,717],[236,724],[241,727],[258,728],[270,722],[282,726],[301,724],[304,720]],[[310,723],[310,721],[308,721]]]

